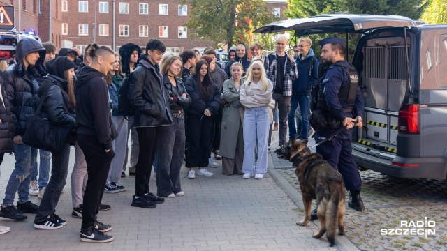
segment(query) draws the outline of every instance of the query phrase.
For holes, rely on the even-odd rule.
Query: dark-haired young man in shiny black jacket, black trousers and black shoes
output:
[[[169,93],[163,86],[159,62],[165,45],[151,39],[146,45],[146,55],[140,56],[138,64],[129,76],[129,102],[135,107],[133,126],[138,132],[140,153],[135,169],[135,195],[132,206],[154,208],[164,199],[149,192],[156,147],[159,144],[160,126],[173,125],[169,109]]]

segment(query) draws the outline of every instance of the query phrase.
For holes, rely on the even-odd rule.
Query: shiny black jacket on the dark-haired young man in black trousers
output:
[[[173,125],[169,93],[163,86],[163,76],[158,64],[152,66],[147,56],[140,56],[129,79],[129,103],[135,107],[133,126]]]

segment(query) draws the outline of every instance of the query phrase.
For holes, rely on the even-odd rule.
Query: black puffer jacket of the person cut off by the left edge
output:
[[[3,84],[1,84],[1,96],[3,96],[3,100],[0,99],[0,153],[12,153],[14,151],[15,123],[11,116],[11,102],[6,98]]]

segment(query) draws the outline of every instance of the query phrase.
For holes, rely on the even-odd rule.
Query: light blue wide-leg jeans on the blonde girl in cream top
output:
[[[252,173],[254,166],[254,146],[258,139],[258,161],[256,174],[267,172],[267,148],[270,118],[267,107],[246,108],[244,114],[244,162],[242,172]]]

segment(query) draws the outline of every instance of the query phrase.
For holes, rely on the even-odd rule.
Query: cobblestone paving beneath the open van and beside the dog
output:
[[[308,146],[313,146],[309,140]],[[277,142],[272,144],[276,149]],[[295,169],[286,160],[272,153],[272,162],[284,178],[300,192]],[[362,199],[366,211],[357,212],[347,206],[346,237],[360,250],[447,250],[447,185],[445,181],[402,179],[367,170],[362,177]],[[312,208],[315,208],[313,201]],[[381,235],[381,229],[401,227],[401,221],[433,220],[435,235]],[[416,227],[411,227],[416,228]],[[424,227],[422,227],[424,228]]]

